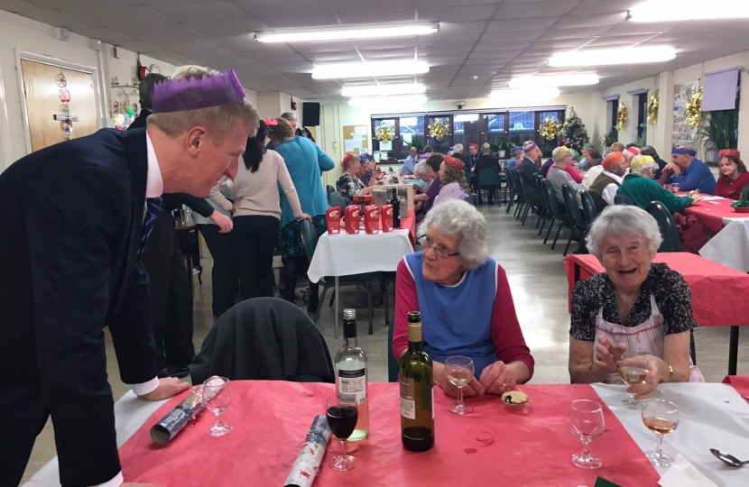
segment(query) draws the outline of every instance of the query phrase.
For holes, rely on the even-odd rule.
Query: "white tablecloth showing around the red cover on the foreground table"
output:
[[[606,402],[643,451],[652,450],[656,437],[643,425],[640,411],[622,406],[628,397],[624,386],[594,384],[593,388]],[[655,396],[671,400],[679,406],[680,424],[676,431],[666,436],[663,448],[676,456],[680,453],[708,479],[721,487],[746,487],[749,470],[722,464],[710,454],[709,448],[726,451],[742,460],[749,460],[749,404],[727,384],[681,383],[661,384]],[[159,409],[164,401],[138,400],[128,392],[115,404],[117,445],[122,446],[135,431]],[[397,414],[397,413],[396,413]],[[606,435],[596,439],[606,441]],[[596,441],[591,445],[595,453]],[[262,460],[262,459],[261,459]],[[661,473],[667,469],[656,467]],[[57,457],[34,474],[23,487],[58,487]]]

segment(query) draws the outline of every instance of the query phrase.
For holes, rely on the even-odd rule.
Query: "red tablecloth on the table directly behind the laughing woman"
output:
[[[699,326],[749,326],[749,274],[708,261],[694,253],[658,253],[653,262],[663,262],[684,276],[692,291],[692,308]],[[575,264],[580,279],[604,271],[593,255],[568,255],[564,260],[571,308],[575,288]]]

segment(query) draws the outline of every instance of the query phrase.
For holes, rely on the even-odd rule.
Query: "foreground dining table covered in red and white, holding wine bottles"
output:
[[[227,436],[206,433],[215,418],[206,411],[170,444],[153,443],[149,429],[186,395],[147,402],[132,392],[115,405],[117,443],[127,482],[203,487],[283,485],[298,455],[312,418],[325,412],[332,384],[287,381],[232,381],[234,401],[222,418],[233,427]],[[593,486],[597,477],[623,487],[655,487],[668,468],[653,467],[643,452],[656,437],[643,425],[639,410],[621,401],[624,386],[603,384],[522,385],[530,401],[511,411],[497,396],[467,398],[475,412],[448,412],[448,398],[435,387],[435,446],[425,453],[404,450],[400,441],[399,385],[370,383],[370,437],[349,451],[359,460],[350,472],[331,470],[338,452],[330,438],[313,485],[354,487],[409,485]],[[676,431],[666,436],[664,451],[680,455],[710,482],[745,487],[745,469],[721,464],[710,455],[714,447],[749,458],[749,404],[731,385],[717,383],[661,384],[653,397],[680,408]],[[603,405],[606,431],[590,445],[604,463],[599,470],[579,469],[571,455],[582,451],[568,427],[572,400]],[[353,446],[353,447],[352,447]],[[59,485],[55,457],[25,487]]]

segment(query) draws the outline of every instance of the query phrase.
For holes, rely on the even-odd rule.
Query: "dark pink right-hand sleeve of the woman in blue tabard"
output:
[[[504,363],[520,361],[528,366],[531,372],[528,380],[533,377],[533,357],[531,350],[525,345],[522,330],[515,314],[513,294],[507,274],[497,264],[497,289],[495,306],[492,308],[492,343],[495,345],[496,358]],[[397,322],[396,322],[397,323]]]

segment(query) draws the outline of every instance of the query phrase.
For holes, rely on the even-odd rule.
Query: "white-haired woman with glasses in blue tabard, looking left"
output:
[[[419,231],[423,252],[406,255],[396,273],[393,356],[408,345],[408,312],[420,311],[434,383],[447,394],[457,393],[445,374],[451,355],[474,361],[475,377],[463,388],[470,396],[502,394],[531,379],[533,357],[504,269],[488,257],[484,216],[452,199],[434,207]]]

